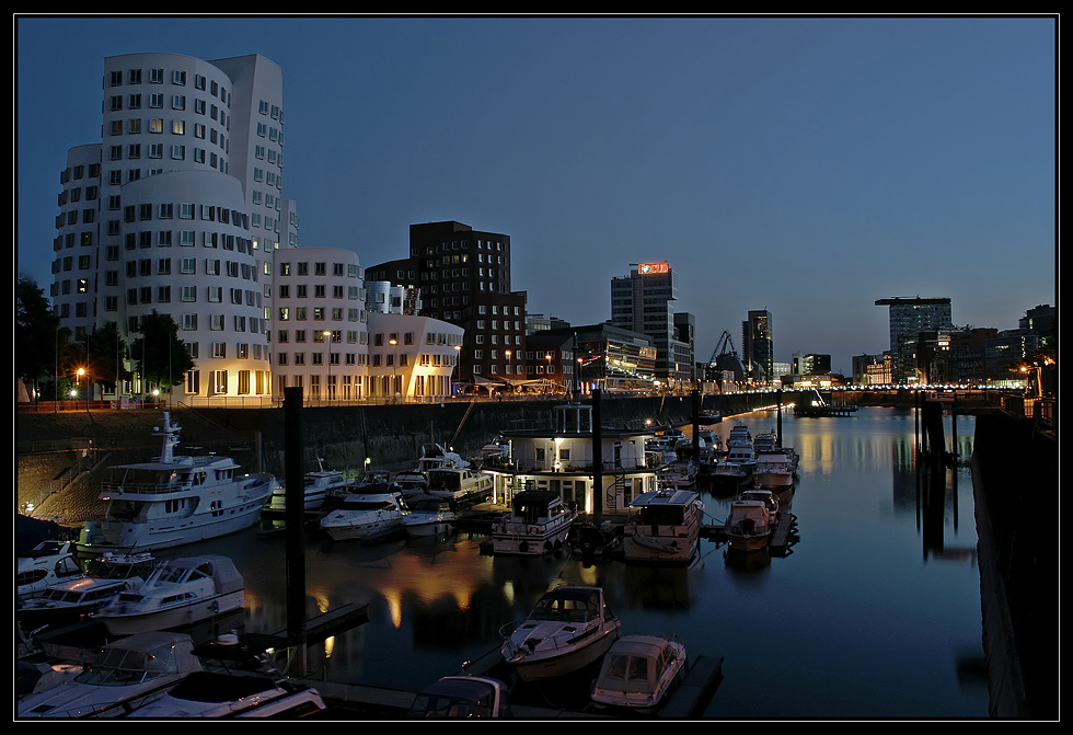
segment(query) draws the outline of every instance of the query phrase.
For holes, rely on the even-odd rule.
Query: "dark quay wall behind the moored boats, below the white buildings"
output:
[[[776,400],[772,393],[708,395],[701,400],[701,410],[734,415]],[[784,403],[791,400],[791,394],[783,397]],[[402,469],[415,466],[422,445],[432,441],[470,457],[500,430],[550,426],[552,409],[563,402],[558,397],[308,407],[301,412],[303,467],[315,469],[321,458],[325,467],[360,472],[368,458],[373,468]],[[604,395],[601,401],[605,425],[639,428],[648,420],[657,426],[680,425],[691,421],[692,411],[688,394]],[[285,473],[282,407],[176,407],[172,418],[183,429],[180,452],[227,453],[246,471]],[[146,461],[160,451],[160,439],[152,435],[161,424],[160,411],[20,411],[16,424],[19,507],[34,502],[44,515],[68,524],[80,524],[100,510],[96,492],[107,467]],[[49,494],[49,486],[61,486],[62,492]]]

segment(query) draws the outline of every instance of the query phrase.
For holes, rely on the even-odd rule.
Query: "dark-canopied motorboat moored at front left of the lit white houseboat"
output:
[[[558,493],[526,490],[514,496],[510,515],[492,524],[492,552],[540,556],[563,548],[577,518]]]

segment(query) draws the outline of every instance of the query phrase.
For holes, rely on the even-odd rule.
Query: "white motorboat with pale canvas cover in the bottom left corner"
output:
[[[118,716],[203,670],[183,633],[138,633],[107,643],[85,667],[56,669],[19,702],[20,717]]]

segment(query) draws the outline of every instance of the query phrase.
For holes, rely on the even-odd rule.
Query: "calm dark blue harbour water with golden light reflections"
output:
[[[737,422],[757,434],[776,418],[754,412],[713,428],[725,439]],[[695,562],[676,569],[569,554],[494,558],[480,550],[487,537],[469,532],[376,545],[310,532],[308,615],[357,602],[368,605],[369,621],[309,646],[308,677],[416,691],[498,648],[501,629],[550,586],[568,583],[602,586],[624,635],[676,635],[691,659],[723,657],[705,717],[987,717],[967,461],[947,473],[934,520],[918,502],[913,411],[784,411],[781,425],[783,444],[800,455],[789,506],[798,540],[783,555],[728,556],[725,544],[702,540]],[[946,418],[962,460],[972,427],[971,417]],[[722,524],[730,498],[703,489],[702,496],[705,522]],[[286,630],[282,535],[251,529],[182,550],[191,553],[234,559],[246,582],[247,632]],[[585,694],[542,691],[549,707]]]

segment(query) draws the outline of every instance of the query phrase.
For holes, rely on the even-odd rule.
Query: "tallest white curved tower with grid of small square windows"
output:
[[[269,395],[282,72],[259,55],[112,56],[102,113],[102,141],[72,148],[60,176],[51,296],[62,323],[81,340],[114,322],[130,342],[146,314],[170,314],[197,364],[174,393]],[[297,225],[286,210],[285,230]]]

